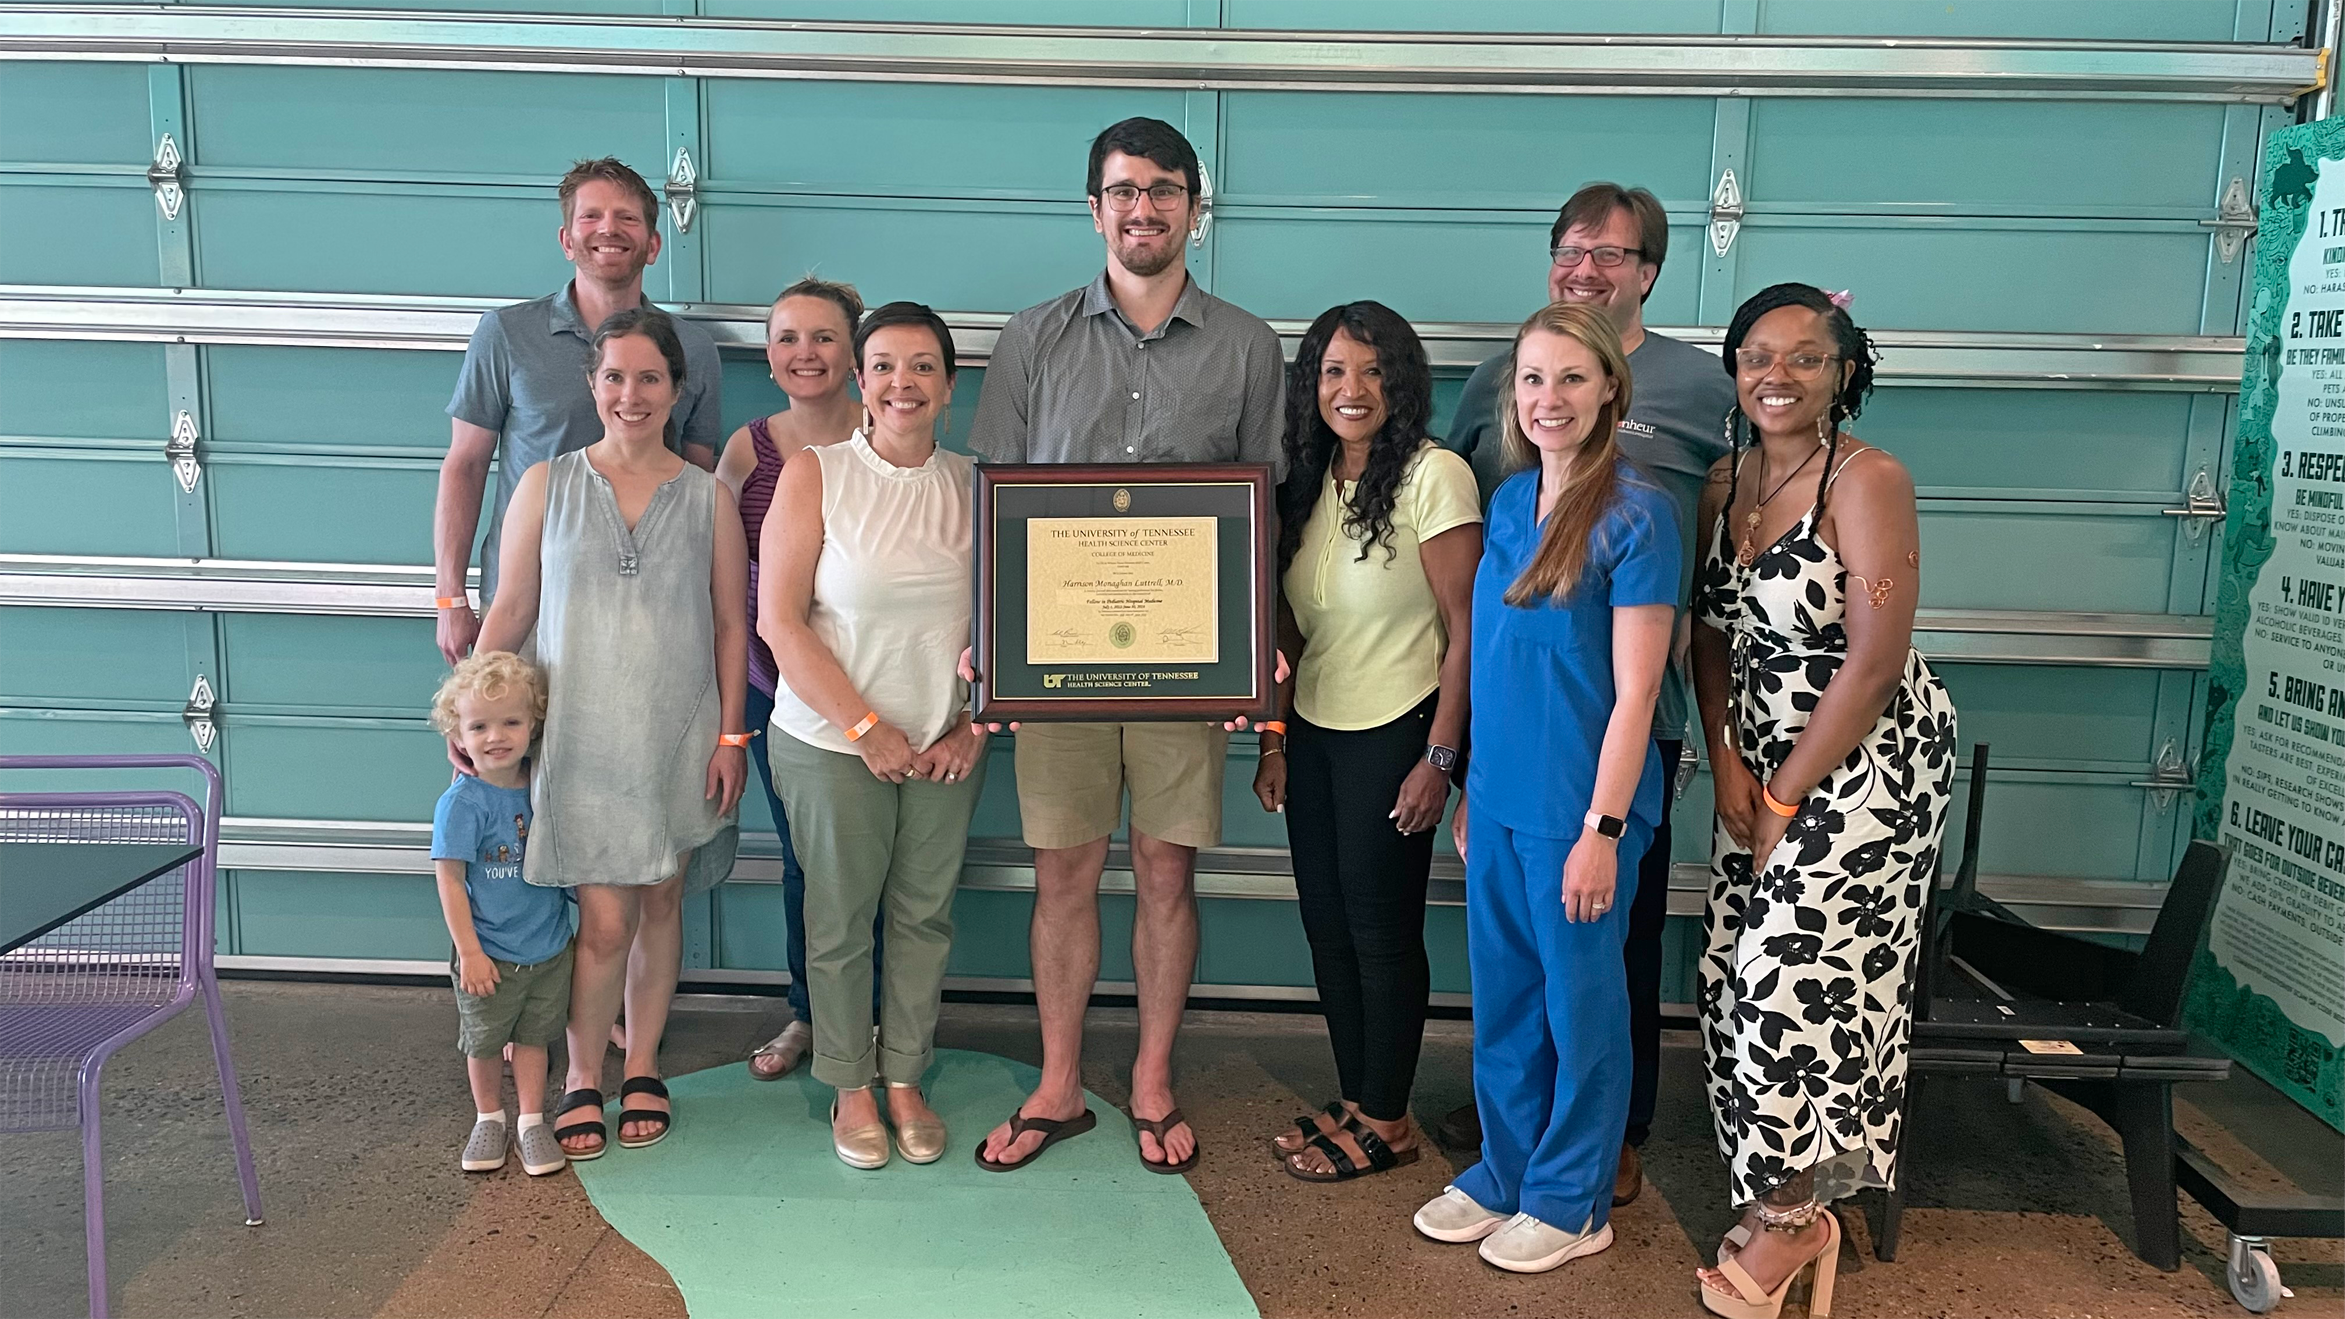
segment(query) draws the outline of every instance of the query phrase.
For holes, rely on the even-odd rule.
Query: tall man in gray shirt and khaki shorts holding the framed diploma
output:
[[[1280,458],[1285,359],[1262,319],[1196,286],[1196,148],[1163,120],[1090,143],[1090,221],[1107,270],[1001,326],[968,446],[987,462],[1269,462]],[[1276,476],[1273,476],[1276,479]],[[1053,723],[1018,732],[1018,814],[1034,847],[1041,1084],[985,1138],[992,1169],[1032,1159],[1083,1112],[1083,1009],[1100,974],[1100,871],[1133,798],[1133,1117],[1156,1171],[1196,1159],[1172,1103],[1172,1035],[1196,972],[1196,850],[1222,840],[1229,735],[1196,723]],[[1039,1127],[1036,1127],[1039,1124]]]

